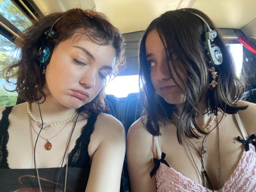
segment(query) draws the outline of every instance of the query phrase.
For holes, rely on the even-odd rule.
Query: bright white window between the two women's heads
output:
[[[107,78],[106,94],[112,94],[118,98],[127,97],[129,93],[139,92],[139,75],[117,76],[114,79]]]

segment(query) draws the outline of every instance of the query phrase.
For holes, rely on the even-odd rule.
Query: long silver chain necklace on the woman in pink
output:
[[[218,191],[220,190],[220,188],[221,188],[221,155],[220,155],[220,139],[219,139],[219,124],[218,124],[218,117],[216,116],[216,122],[217,122],[217,136],[218,136]],[[187,138],[188,139],[188,138]],[[188,139],[189,140],[189,139]],[[199,171],[199,169],[198,169],[198,167],[197,167],[197,164],[195,163],[195,160],[194,160],[194,158],[193,158],[193,155],[192,155],[192,153],[191,153],[191,150],[190,150],[190,148],[189,148],[189,145],[187,144],[187,142],[185,141],[185,143],[186,143],[186,146],[187,146],[187,149],[189,150],[189,153],[190,153],[190,156],[191,156],[191,158],[192,158],[192,160],[193,160],[193,162],[194,162],[194,165],[195,165],[195,168],[197,169],[197,172],[198,172],[198,174],[199,174],[199,176],[201,177],[201,179],[202,179],[202,182],[203,182],[203,186],[205,186],[206,187],[206,189],[207,189],[207,191],[209,191],[208,190],[208,188],[207,188],[207,186],[206,186],[206,184],[205,184],[205,181],[203,180],[203,177],[202,177],[202,175],[200,174],[200,171]],[[197,150],[197,149],[196,149]],[[202,155],[202,154],[201,154]],[[202,160],[202,159],[201,159]]]

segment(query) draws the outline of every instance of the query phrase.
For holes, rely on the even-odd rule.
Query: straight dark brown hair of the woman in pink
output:
[[[223,63],[214,66],[215,71],[218,72],[218,84],[213,89],[208,89],[208,84],[213,80],[208,71],[209,67],[213,66],[206,47],[205,33],[208,28],[202,19],[193,13],[203,17],[211,29],[216,30],[218,34],[213,43],[222,50]],[[147,115],[144,126],[150,134],[160,135],[159,123],[165,124],[166,119],[171,119],[173,110],[176,110],[175,105],[168,104],[157,94],[150,79],[150,62],[146,60],[145,40],[147,34],[154,29],[165,47],[170,77],[176,74],[185,87],[183,93],[186,99],[179,108],[179,119],[177,119],[177,138],[180,144],[184,137],[198,138],[199,135],[193,131],[192,125],[199,133],[206,134],[195,121],[199,115],[199,102],[205,93],[208,114],[216,114],[217,111],[233,114],[247,108],[247,106],[235,105],[245,91],[243,75],[240,79],[235,75],[235,65],[230,51],[210,18],[201,11],[191,8],[167,11],[150,23],[139,46],[139,78],[143,85],[139,97],[144,107],[143,114]],[[185,82],[178,73],[181,64],[174,57],[178,58],[186,69]],[[181,85],[173,80],[182,90]]]

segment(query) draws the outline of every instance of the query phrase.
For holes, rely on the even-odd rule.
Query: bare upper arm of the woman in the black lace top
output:
[[[101,141],[93,155],[86,192],[119,192],[125,157],[123,126],[110,115],[100,114],[94,132]]]

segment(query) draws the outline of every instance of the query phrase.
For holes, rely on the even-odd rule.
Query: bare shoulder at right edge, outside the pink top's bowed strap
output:
[[[246,110],[238,111],[239,117],[241,118],[241,121],[243,122],[243,125],[245,126],[245,129],[247,131],[247,134],[250,136],[251,134],[256,134],[256,104],[255,103],[249,103],[246,101],[238,101],[238,106],[248,106]]]

